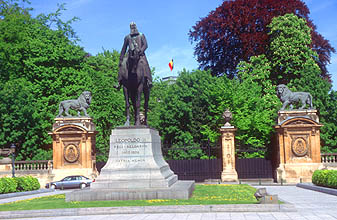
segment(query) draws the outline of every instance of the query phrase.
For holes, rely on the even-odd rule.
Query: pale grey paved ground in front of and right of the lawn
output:
[[[295,205],[297,212],[240,212],[240,213],[162,213],[162,214],[116,214],[95,216],[62,216],[29,218],[34,220],[316,220],[337,219],[337,196],[319,193],[296,186],[267,186],[267,192],[277,194],[285,202]],[[28,218],[25,218],[26,220]]]

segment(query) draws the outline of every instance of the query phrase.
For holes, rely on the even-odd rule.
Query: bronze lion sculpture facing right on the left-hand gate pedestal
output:
[[[84,91],[82,94],[78,97],[78,99],[70,99],[70,100],[64,100],[59,105],[59,114],[57,117],[62,117],[62,114],[64,113],[66,116],[71,116],[69,114],[69,109],[73,109],[77,111],[77,115],[81,116],[81,111],[83,111],[84,116],[89,117],[87,114],[87,109],[89,108],[89,105],[91,103],[91,92]]]

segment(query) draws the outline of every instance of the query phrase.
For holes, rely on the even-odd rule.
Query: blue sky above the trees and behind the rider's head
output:
[[[123,39],[129,33],[129,24],[136,22],[138,30],[148,41],[146,55],[156,76],[177,75],[183,68],[196,69],[198,63],[188,32],[200,18],[221,5],[222,0],[30,0],[33,15],[54,12],[58,3],[66,3],[62,19],[77,16],[73,24],[81,39],[79,44],[96,55],[106,50],[121,50]],[[318,32],[337,50],[337,1],[304,0],[310,18]],[[174,70],[168,63],[173,58]],[[337,90],[337,54],[332,54],[328,70],[333,89]]]

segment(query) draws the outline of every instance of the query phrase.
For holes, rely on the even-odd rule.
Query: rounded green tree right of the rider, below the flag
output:
[[[160,93],[159,123],[156,125],[164,143],[172,147],[191,148],[201,142],[218,139],[218,126],[223,111],[219,109],[220,94],[225,87],[220,78],[212,77],[207,71],[182,71],[172,85],[159,85],[166,88]],[[226,79],[228,84],[230,80]],[[173,158],[200,158],[204,153],[198,149],[175,151]],[[178,155],[179,156],[178,156]],[[175,155],[175,156],[173,156]]]

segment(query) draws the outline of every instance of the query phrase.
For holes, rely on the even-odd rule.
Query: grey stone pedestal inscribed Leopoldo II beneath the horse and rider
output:
[[[157,130],[118,127],[110,136],[110,152],[90,189],[66,195],[66,201],[188,199],[194,181],[178,181],[161,152]]]

